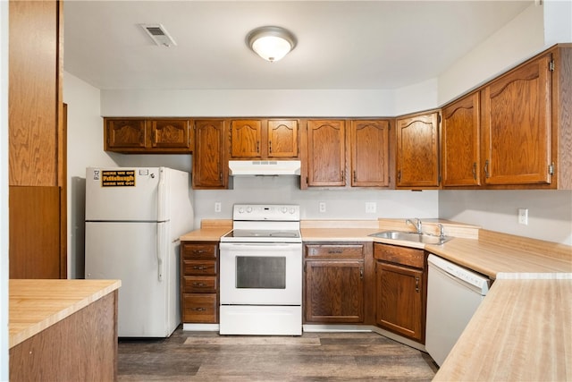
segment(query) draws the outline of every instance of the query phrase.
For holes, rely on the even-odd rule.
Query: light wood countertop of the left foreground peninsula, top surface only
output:
[[[9,348],[114,292],[120,280],[21,280],[9,282]]]

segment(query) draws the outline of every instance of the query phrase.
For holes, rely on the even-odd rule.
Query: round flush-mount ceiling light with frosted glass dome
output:
[[[260,27],[247,35],[247,45],[266,61],[273,63],[296,47],[296,38],[280,27]]]

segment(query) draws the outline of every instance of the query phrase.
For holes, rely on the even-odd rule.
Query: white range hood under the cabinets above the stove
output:
[[[299,175],[299,160],[229,160],[229,174],[241,175]]]

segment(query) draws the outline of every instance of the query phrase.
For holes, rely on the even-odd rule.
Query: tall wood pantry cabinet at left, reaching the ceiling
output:
[[[63,2],[9,2],[10,278],[67,277]]]

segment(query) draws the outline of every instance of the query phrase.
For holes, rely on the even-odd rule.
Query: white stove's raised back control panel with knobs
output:
[[[299,221],[300,207],[294,204],[235,204],[232,219]]]

